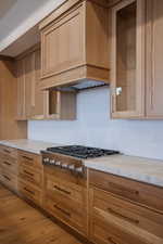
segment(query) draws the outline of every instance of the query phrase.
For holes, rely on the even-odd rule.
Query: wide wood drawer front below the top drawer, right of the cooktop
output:
[[[128,224],[135,232],[137,229],[141,229],[145,235],[148,236],[148,233],[151,233],[153,239],[155,236],[163,242],[163,215],[114,197],[101,190],[90,190],[90,192],[92,194],[92,215],[108,216],[108,218],[122,222],[123,227]]]

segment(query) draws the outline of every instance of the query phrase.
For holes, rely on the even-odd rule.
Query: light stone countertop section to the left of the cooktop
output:
[[[0,144],[35,154],[40,154],[40,151],[46,150],[47,147],[61,145],[57,143],[27,140],[27,139],[0,141]]]

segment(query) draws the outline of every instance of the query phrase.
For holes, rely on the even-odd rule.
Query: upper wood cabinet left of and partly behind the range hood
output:
[[[40,49],[32,49],[16,61],[17,120],[75,119],[76,93],[42,91],[40,82]]]

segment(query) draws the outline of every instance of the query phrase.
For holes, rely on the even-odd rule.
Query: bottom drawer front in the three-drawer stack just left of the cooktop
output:
[[[41,191],[25,180],[18,180],[18,191],[23,197],[41,205],[42,194]]]

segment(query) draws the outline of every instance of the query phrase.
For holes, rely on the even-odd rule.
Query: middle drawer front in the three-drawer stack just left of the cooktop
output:
[[[18,176],[22,179],[25,179],[38,187],[42,185],[42,172],[40,170],[36,170],[33,167],[27,167],[25,165],[20,165],[18,167]]]

